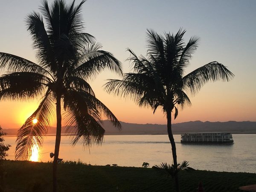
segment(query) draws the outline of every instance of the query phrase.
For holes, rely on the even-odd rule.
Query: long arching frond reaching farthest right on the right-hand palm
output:
[[[195,94],[208,81],[230,81],[233,77],[234,74],[227,67],[217,61],[213,61],[187,74],[182,80],[184,89]]]

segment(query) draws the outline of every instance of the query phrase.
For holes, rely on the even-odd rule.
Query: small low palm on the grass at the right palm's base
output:
[[[192,167],[189,167],[188,161],[183,161],[181,164],[178,163],[175,165],[167,165],[167,163],[161,163],[161,165],[152,166],[153,169],[156,169],[160,172],[161,175],[167,175],[167,177],[172,177],[172,190],[173,190],[173,178],[178,174],[178,172],[184,170],[186,172],[195,171]]]

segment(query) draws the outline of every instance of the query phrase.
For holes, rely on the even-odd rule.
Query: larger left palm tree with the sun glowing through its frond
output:
[[[0,77],[0,99],[41,99],[37,110],[26,120],[17,133],[16,160],[26,160],[34,145],[42,147],[50,125],[57,117],[55,152],[53,161],[53,191],[57,191],[57,163],[61,142],[61,121],[73,133],[72,144],[79,139],[84,145],[102,143],[105,130],[101,116],[113,125],[121,125],[113,113],[98,99],[88,84],[105,68],[122,75],[121,63],[84,33],[81,17],[82,0],[67,5],[55,0],[48,6],[43,0],[42,15],[32,12],[26,18],[32,35],[38,63],[9,53],[0,52],[0,69],[9,73]],[[43,20],[44,17],[44,20]],[[45,21],[45,23],[44,23]],[[45,25],[46,24],[46,25]],[[63,106],[63,107],[62,107]],[[61,111],[64,109],[64,116]],[[33,119],[38,123],[33,123]]]

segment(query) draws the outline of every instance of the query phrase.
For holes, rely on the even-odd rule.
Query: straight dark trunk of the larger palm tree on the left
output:
[[[58,166],[58,154],[61,143],[61,96],[57,94],[56,97],[56,116],[57,116],[57,130],[53,160],[53,192],[57,192],[57,166]]]

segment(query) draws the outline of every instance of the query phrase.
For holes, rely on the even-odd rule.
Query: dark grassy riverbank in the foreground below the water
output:
[[[6,160],[6,192],[50,192],[52,163]],[[236,192],[256,184],[256,174],[232,172],[180,172],[182,192],[196,192],[201,180],[205,192]],[[150,168],[87,166],[77,162],[58,165],[60,192],[170,192],[172,180]]]

